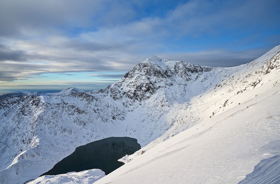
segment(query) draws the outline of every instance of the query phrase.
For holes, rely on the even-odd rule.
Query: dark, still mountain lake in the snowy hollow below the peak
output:
[[[124,164],[117,161],[118,159],[126,154],[133,154],[140,148],[141,145],[137,143],[137,139],[130,137],[101,139],[77,147],[72,154],[62,159],[51,170],[41,176],[89,169],[101,169],[107,175]]]

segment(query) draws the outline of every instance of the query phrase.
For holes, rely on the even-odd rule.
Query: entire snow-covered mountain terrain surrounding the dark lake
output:
[[[279,72],[280,45],[238,67],[153,56],[106,89],[2,95],[0,182],[279,183]],[[104,177],[37,178],[76,147],[111,136],[142,148]]]

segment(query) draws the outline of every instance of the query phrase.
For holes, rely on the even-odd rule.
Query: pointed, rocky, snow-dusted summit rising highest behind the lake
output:
[[[162,91],[169,102],[188,101],[229,76],[233,69],[200,67],[184,61],[152,56],[137,64],[117,83],[108,86],[113,99],[124,96],[143,101]],[[170,92],[172,91],[172,92]]]

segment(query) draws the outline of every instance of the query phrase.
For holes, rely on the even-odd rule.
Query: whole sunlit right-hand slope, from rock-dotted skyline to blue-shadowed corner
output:
[[[174,111],[180,123],[198,116],[196,125],[161,142],[174,132],[171,127],[95,183],[238,183],[245,175],[240,183],[278,183],[279,67],[279,46],[238,67]]]

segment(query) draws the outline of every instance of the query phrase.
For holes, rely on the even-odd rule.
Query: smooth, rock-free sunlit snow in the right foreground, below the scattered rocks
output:
[[[280,154],[279,144],[275,150],[262,149],[280,139],[279,89],[278,85],[256,98],[252,95],[252,100],[208,117],[95,183],[238,183],[259,161]],[[266,181],[279,176],[279,166],[278,162],[278,172]],[[263,172],[258,179],[265,174],[271,173]]]

